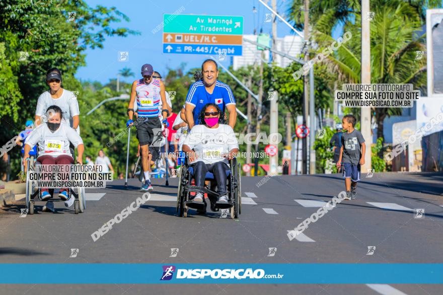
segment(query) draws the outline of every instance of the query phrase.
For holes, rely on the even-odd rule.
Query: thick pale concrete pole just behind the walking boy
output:
[[[370,11],[370,0],[361,0],[361,83],[371,84],[371,23],[367,19]],[[361,107],[361,134],[365,140],[366,153],[364,155],[364,165],[361,171],[367,172],[371,169],[371,108]]]

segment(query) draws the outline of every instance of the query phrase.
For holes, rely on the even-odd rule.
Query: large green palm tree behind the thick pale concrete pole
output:
[[[371,82],[413,83],[415,88],[424,88],[426,60],[415,60],[416,51],[425,51],[424,37],[414,39],[421,30],[416,8],[399,0],[375,0],[371,4],[375,12],[371,21]],[[328,34],[334,15],[330,9],[317,23],[315,38],[321,48],[334,41]],[[325,60],[329,71],[337,74],[339,83],[360,82],[360,23],[360,15],[355,14],[355,21],[344,26],[352,38]],[[384,119],[401,112],[401,108],[374,109],[377,137],[383,137]]]

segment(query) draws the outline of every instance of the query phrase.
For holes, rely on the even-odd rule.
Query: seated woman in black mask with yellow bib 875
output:
[[[23,160],[25,171],[27,169],[26,159],[29,158],[29,151],[35,144],[38,144],[39,150],[37,162],[40,162],[42,165],[73,164],[74,159],[69,149],[69,142],[77,147],[77,162],[82,164],[83,152],[85,150],[83,140],[75,129],[69,127],[65,123],[61,123],[63,119],[61,109],[58,106],[50,106],[46,110],[46,117],[48,118],[46,124],[38,126],[30,134],[25,143],[25,155]],[[60,199],[66,201],[69,198],[68,188],[61,188],[58,196]],[[51,194],[49,193],[48,188],[42,188],[41,200],[45,201],[50,198]]]

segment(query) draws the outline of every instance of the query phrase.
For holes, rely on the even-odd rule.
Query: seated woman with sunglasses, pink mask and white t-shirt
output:
[[[195,125],[183,143],[190,166],[194,170],[196,186],[204,186],[206,172],[214,174],[217,182],[218,204],[228,203],[227,174],[229,160],[236,156],[239,144],[234,130],[225,124],[225,116],[215,104],[203,107],[198,125]],[[203,203],[203,194],[197,192],[193,202]]]

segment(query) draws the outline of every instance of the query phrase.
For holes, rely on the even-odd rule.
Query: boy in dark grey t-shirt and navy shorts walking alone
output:
[[[337,167],[343,163],[343,176],[346,185],[345,200],[355,199],[357,195],[357,181],[360,180],[360,165],[364,164],[366,145],[360,131],[354,129],[357,120],[352,115],[343,117],[343,132],[341,137],[340,156]]]

